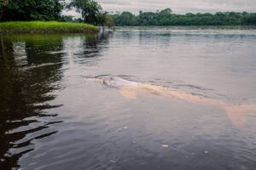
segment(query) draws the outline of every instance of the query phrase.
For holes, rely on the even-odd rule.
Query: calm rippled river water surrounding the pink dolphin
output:
[[[0,44],[1,170],[256,168],[256,30],[119,28]],[[86,81],[104,76],[188,95]]]

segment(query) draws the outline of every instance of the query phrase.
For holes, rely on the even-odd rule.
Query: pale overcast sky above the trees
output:
[[[68,0],[67,0],[68,1]],[[175,14],[216,13],[218,11],[256,12],[256,0],[96,0],[108,12],[156,11],[172,8]],[[79,16],[74,11],[64,12]]]

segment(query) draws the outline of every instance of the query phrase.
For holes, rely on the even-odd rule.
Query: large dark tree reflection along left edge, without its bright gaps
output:
[[[40,122],[38,117],[55,116],[45,110],[58,107],[49,105],[55,96],[49,94],[58,88],[55,82],[61,79],[61,54],[47,54],[48,51],[59,51],[62,48],[61,37],[1,37],[0,38],[0,169],[18,167],[17,161],[22,154],[32,150],[21,150],[10,153],[10,149],[20,149],[32,144],[32,140],[44,138],[56,132],[44,133],[33,139],[24,139],[27,134],[38,132],[49,127],[49,122],[38,127],[30,127],[31,123]],[[45,63],[56,63],[23,69],[15,56],[15,43],[26,42],[26,68]],[[45,42],[47,41],[47,43]],[[24,65],[22,65],[24,66]],[[38,123],[40,124],[40,123]],[[27,127],[24,131],[15,132],[19,127]]]

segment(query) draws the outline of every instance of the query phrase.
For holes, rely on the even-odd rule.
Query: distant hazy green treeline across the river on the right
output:
[[[256,13],[218,12],[216,14],[172,14],[171,8],[157,12],[112,14],[115,26],[243,26],[256,25]]]

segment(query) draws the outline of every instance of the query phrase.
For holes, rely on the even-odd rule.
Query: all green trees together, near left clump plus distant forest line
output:
[[[62,16],[64,9],[76,10],[82,18]],[[0,21],[9,20],[58,20],[95,26],[255,26],[256,13],[172,14],[172,9],[166,8],[139,14],[108,14],[94,0],[0,0]]]

